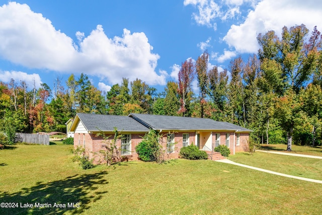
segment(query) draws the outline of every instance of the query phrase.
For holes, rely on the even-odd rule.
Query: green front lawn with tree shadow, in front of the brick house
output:
[[[71,148],[19,145],[0,150],[0,202],[52,204],[42,208],[0,208],[0,214],[322,212],[322,184],[209,160],[173,160],[162,165],[128,162],[82,170],[71,162]],[[255,153],[248,157],[259,161],[265,155]],[[246,157],[240,157],[243,156]],[[320,171],[316,176],[321,178],[321,174]],[[55,202],[66,207],[54,208]],[[80,207],[68,208],[68,202],[79,202]]]

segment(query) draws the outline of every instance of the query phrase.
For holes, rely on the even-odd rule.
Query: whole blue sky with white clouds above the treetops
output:
[[[102,92],[122,78],[162,92],[188,58],[207,50],[208,69],[228,68],[258,52],[259,33],[301,24],[322,30],[322,1],[0,0],[0,81],[53,91],[84,73]]]

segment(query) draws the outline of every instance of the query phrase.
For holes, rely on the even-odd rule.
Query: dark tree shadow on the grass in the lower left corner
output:
[[[14,193],[0,192],[0,202],[18,203],[15,208],[0,207],[0,214],[81,213],[106,193],[95,192],[98,189],[96,185],[108,184],[104,179],[106,174],[107,172],[74,175],[48,183],[37,182],[33,187]]]

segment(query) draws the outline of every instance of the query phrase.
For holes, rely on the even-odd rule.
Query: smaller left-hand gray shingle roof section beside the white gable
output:
[[[149,129],[128,116],[115,116],[104,114],[77,113],[88,131],[118,131],[147,132]]]

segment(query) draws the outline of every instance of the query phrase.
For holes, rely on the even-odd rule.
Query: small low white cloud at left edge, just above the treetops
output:
[[[14,79],[15,82],[20,85],[21,82],[26,82],[28,89],[33,89],[34,84],[36,89],[40,88],[42,81],[38,74],[27,74],[23,71],[1,71],[0,70],[0,81],[9,83],[11,79]]]

